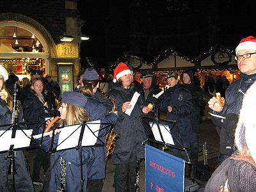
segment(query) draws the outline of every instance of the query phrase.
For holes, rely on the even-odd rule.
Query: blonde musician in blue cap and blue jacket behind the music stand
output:
[[[84,121],[92,121],[92,116],[85,109],[88,99],[81,93],[63,92],[61,106],[59,108],[61,120],[54,125],[61,127],[62,125],[82,124]],[[68,129],[64,128],[64,129]],[[41,129],[41,132],[43,129]],[[52,135],[50,135],[52,136]],[[58,143],[59,134],[54,136],[54,145]],[[42,148],[49,150],[51,146],[51,137],[45,136],[42,142]],[[93,147],[82,148],[83,159],[83,189],[86,191],[87,185],[87,164],[94,158]],[[81,175],[79,151],[76,148],[55,152],[51,156],[51,172],[49,182],[47,182],[48,191],[81,191]],[[65,171],[63,171],[65,170]],[[62,181],[62,182],[61,182]]]

